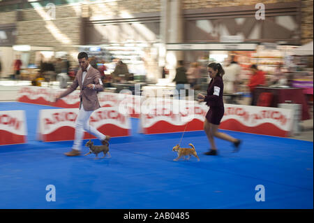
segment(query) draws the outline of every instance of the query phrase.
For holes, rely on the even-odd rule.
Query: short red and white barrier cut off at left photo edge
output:
[[[26,143],[27,126],[24,110],[0,111],[0,145]]]

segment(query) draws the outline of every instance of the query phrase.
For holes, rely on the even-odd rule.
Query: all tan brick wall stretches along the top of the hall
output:
[[[295,0],[182,0],[184,9],[212,8],[223,6],[244,6],[255,3],[285,3]],[[301,43],[313,40],[313,0],[302,2]],[[17,22],[17,44],[33,44],[56,46],[80,44],[80,17],[106,19],[135,13],[160,11],[161,0],[117,0],[105,3],[84,3],[76,6],[57,6],[56,20],[52,25],[43,20],[40,12],[46,8],[23,10],[20,22],[17,22],[17,11],[0,13],[0,25]],[[41,11],[40,11],[41,10]],[[39,12],[40,11],[40,12]],[[56,34],[61,33],[61,34]],[[62,35],[63,34],[63,35]]]

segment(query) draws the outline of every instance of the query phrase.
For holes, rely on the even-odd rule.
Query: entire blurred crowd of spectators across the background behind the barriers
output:
[[[133,74],[130,73],[128,65],[121,61],[121,59],[114,59],[114,67],[112,72],[108,72],[108,68],[105,64],[105,60],[100,60],[96,57],[89,57],[89,64],[97,69],[100,72],[100,77],[103,82],[104,87],[112,87],[112,83],[121,83],[127,82],[128,80],[134,80]],[[200,85],[204,85],[204,76],[208,78],[207,74],[202,71],[204,70],[204,64],[199,62],[192,62],[186,66],[186,62],[183,60],[178,61],[176,75],[172,80],[175,82],[177,92],[179,92],[178,97],[180,96],[181,90],[184,89],[195,89],[200,90]],[[0,66],[1,67],[1,66]],[[20,55],[16,55],[13,62],[13,79],[19,80],[21,75],[22,60]],[[1,69],[1,68],[0,68]],[[51,82],[59,81],[61,88],[66,88],[68,86],[69,80],[74,80],[75,75],[78,71],[78,66],[70,66],[70,61],[67,57],[60,58],[50,58],[40,59],[38,64],[38,73],[35,78],[31,80],[32,85],[41,86],[41,82]],[[266,85],[289,85],[289,78],[283,72],[283,67],[278,65],[276,71],[271,75],[270,79],[267,79],[267,73],[258,69],[256,64],[252,64],[249,67],[251,72],[248,80],[241,80],[241,66],[238,62],[231,57],[229,64],[225,65],[225,75],[223,75],[224,89],[223,92],[225,95],[232,95],[243,90],[243,86],[246,87],[246,90],[251,94],[251,105],[255,105],[254,101],[254,89],[255,87],[266,86]],[[163,78],[168,71],[163,68]]]

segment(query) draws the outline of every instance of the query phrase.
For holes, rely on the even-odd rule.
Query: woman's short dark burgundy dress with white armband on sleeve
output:
[[[206,114],[206,119],[211,124],[220,124],[225,107],[223,106],[223,79],[220,76],[211,79],[207,88],[207,96],[204,101],[209,106],[209,111]]]

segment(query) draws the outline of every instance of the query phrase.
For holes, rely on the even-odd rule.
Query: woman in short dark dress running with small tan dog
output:
[[[214,136],[225,141],[232,142],[236,148],[234,152],[237,152],[241,141],[218,131],[220,121],[225,113],[225,108],[223,106],[223,75],[225,74],[225,71],[220,64],[216,63],[209,64],[207,66],[207,71],[209,77],[211,78],[211,82],[209,82],[209,87],[207,89],[207,95],[197,95],[198,101],[206,101],[207,106],[210,107],[204,122],[204,131],[206,132],[209,143],[211,144],[211,150],[209,150],[209,152],[205,152],[204,154],[217,154]]]

